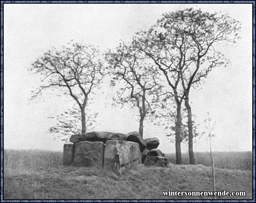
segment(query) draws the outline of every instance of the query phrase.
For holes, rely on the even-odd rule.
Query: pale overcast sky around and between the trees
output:
[[[216,121],[214,151],[252,149],[252,5],[249,4],[4,4],[4,148],[63,150],[63,142],[47,133],[55,120],[74,102],[49,97],[48,92],[29,101],[31,90],[40,83],[28,68],[51,47],[70,40],[98,45],[101,52],[129,40],[136,31],[150,28],[164,12],[187,7],[206,12],[225,12],[241,21],[237,46],[223,47],[232,63],[210,72],[201,89],[191,90],[190,101],[196,123],[204,129],[207,112]],[[129,106],[111,107],[109,87],[97,91],[92,109],[99,112],[97,131],[138,131],[138,113]],[[175,146],[161,127],[145,122],[144,137],[157,137],[159,149],[174,152]],[[194,151],[208,151],[205,139]],[[187,146],[182,145],[187,151]]]

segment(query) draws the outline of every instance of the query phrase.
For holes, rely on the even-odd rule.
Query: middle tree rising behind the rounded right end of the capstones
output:
[[[157,85],[157,70],[152,64],[147,64],[131,45],[124,42],[115,52],[105,54],[109,63],[109,73],[113,75],[111,86],[121,85],[116,92],[118,104],[130,102],[137,107],[140,116],[139,134],[143,137],[143,121],[148,113],[153,113],[149,97],[159,88]],[[149,68],[150,67],[150,68]]]

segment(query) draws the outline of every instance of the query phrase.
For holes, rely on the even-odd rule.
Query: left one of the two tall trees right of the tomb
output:
[[[171,47],[162,43],[162,35],[157,34],[154,28],[151,28],[148,32],[136,33],[133,39],[133,46],[141,52],[142,56],[145,55],[145,57],[152,59],[158,67],[157,73],[159,76],[162,75],[162,80],[165,79],[167,82],[167,87],[162,88],[162,93],[157,94],[157,98],[169,96],[169,98],[173,97],[176,102],[176,164],[181,164],[181,105],[184,95],[180,85],[180,71],[172,67],[174,61],[178,62],[179,57],[178,54],[171,54]]]

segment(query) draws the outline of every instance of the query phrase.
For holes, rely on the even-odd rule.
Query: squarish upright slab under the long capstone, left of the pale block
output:
[[[78,142],[75,143],[74,166],[102,168],[104,162],[103,142]]]

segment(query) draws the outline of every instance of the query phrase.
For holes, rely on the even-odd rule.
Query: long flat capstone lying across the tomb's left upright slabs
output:
[[[126,135],[117,132],[98,131],[72,135],[69,140],[70,142],[89,141],[106,143],[107,140],[126,140]]]

